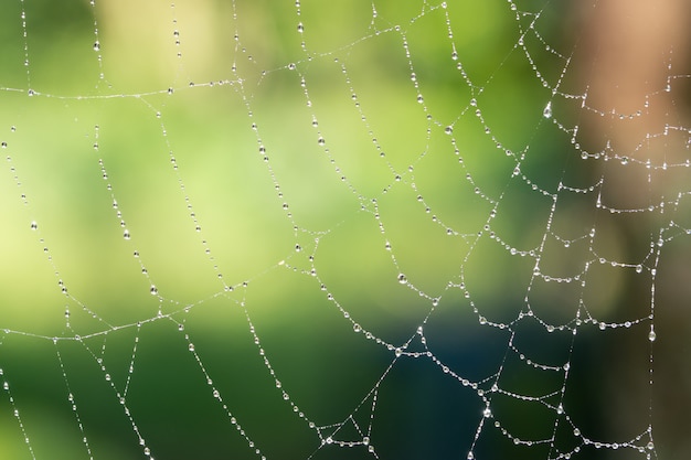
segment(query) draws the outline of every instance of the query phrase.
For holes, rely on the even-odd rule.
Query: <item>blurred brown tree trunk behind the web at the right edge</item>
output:
[[[640,404],[630,403],[651,398],[658,457],[691,458],[691,249],[689,236],[661,233],[671,221],[681,221],[679,225],[685,228],[691,225],[689,196],[679,197],[680,192],[691,190],[691,168],[679,167],[690,158],[691,2],[602,0],[594,7],[578,2],[576,8],[584,20],[576,65],[587,90],[586,104],[596,110],[582,114],[586,128],[582,132],[588,138],[585,142],[598,145],[609,156],[607,162],[599,159],[597,172],[604,179],[603,203],[618,210],[655,206],[655,211],[638,213],[635,222],[641,225],[631,225],[632,217],[620,220],[617,233],[626,238],[626,261],[640,254],[642,246],[665,237],[659,264],[655,255],[646,261],[657,274],[639,281],[627,278],[617,306],[619,317],[649,311],[652,280],[657,340],[647,343],[646,323],[640,333],[617,334],[618,341],[614,336],[609,341],[602,360],[607,370],[605,395],[614,400],[606,402],[604,421],[612,436],[640,434],[645,414],[638,410]],[[666,163],[678,167],[668,170]],[[661,202],[674,201],[679,206],[659,207]],[[650,346],[652,391],[648,379],[640,378],[641,357],[650,354]]]

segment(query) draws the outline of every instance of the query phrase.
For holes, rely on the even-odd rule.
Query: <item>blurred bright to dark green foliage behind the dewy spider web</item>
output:
[[[544,121],[551,92],[517,47],[515,13],[499,1],[447,3],[304,0],[299,18],[294,2],[268,0],[0,6],[0,137],[12,168],[0,181],[0,366],[22,419],[0,398],[0,458],[86,458],[83,437],[96,459],[142,458],[135,431],[157,459],[251,458],[230,413],[267,458],[309,458],[319,439],[283,400],[258,346],[318,426],[347,421],[340,435],[358,441],[353,422],[369,425],[379,388],[380,458],[464,458],[483,408],[477,394],[430,361],[402,360],[385,374],[391,350],[343,318],[401,344],[433,298],[429,345],[459,374],[487,383],[514,365],[520,392],[561,387],[502,361],[509,331],[480,327],[464,290],[448,287],[467,284],[490,321],[517,317],[534,260],[477,233],[498,202],[503,242],[536,247],[552,203],[513,179],[503,150],[525,153],[523,173],[555,192],[573,149]],[[536,24],[554,46],[570,40],[556,15]],[[555,68],[542,43],[530,46],[539,67]],[[591,217],[576,211],[570,223],[586,228]],[[602,296],[619,289],[615,279]],[[568,312],[544,314],[572,319],[571,300]],[[589,359],[555,335],[545,362]],[[538,352],[535,342],[525,346]],[[567,385],[574,409],[578,385]],[[130,415],[116,397],[124,388]],[[504,403],[508,429],[551,436],[543,406]],[[599,429],[591,413],[574,417]],[[477,458],[550,454],[495,436],[485,431]],[[369,458],[363,446],[311,458],[339,456]]]

